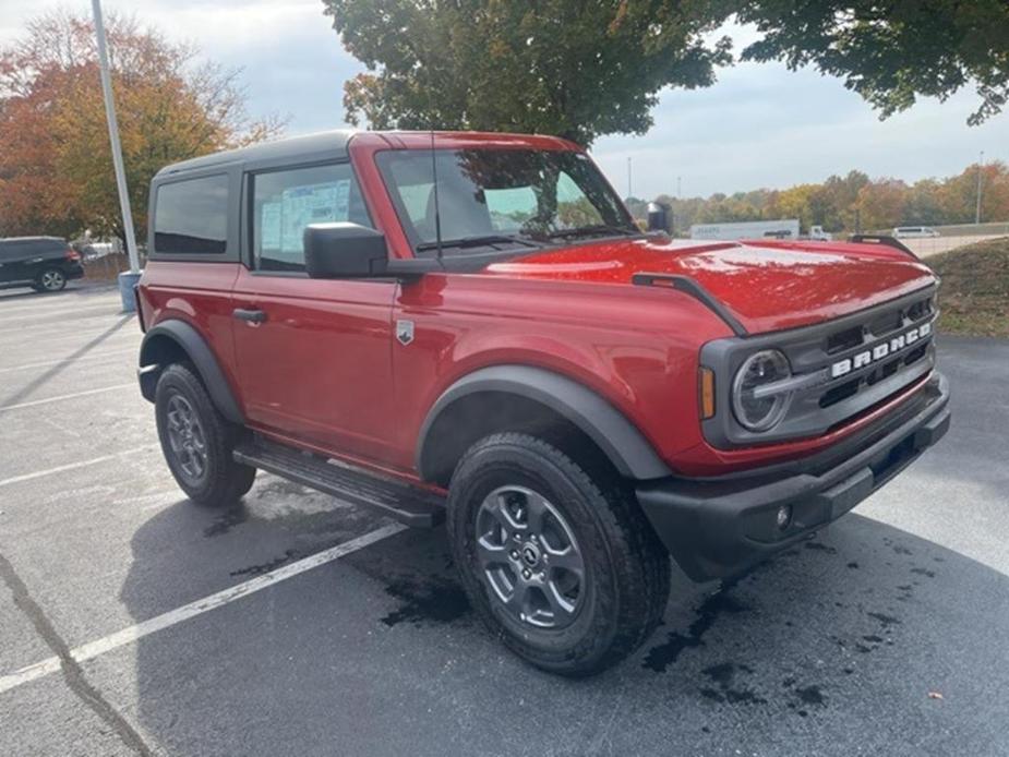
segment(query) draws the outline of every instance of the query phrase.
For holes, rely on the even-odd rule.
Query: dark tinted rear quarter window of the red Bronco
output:
[[[154,251],[219,255],[228,247],[228,177],[161,184],[154,206]]]

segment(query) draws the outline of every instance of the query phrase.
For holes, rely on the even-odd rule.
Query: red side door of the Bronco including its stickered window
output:
[[[311,279],[312,223],[371,226],[349,164],[249,178],[248,266],[233,290],[239,385],[253,426],[332,454],[383,461],[392,413],[396,283]]]

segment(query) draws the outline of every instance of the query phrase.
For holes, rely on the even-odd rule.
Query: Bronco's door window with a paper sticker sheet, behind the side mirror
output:
[[[252,252],[257,271],[304,271],[304,229],[350,221],[371,226],[350,164],[252,177]]]

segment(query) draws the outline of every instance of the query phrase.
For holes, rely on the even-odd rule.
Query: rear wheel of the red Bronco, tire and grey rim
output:
[[[175,363],[161,372],[154,409],[165,460],[190,500],[227,507],[252,488],[255,468],[232,457],[242,429],[221,417],[189,365]]]

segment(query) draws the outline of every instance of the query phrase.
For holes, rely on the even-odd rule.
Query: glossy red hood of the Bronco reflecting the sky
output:
[[[653,239],[534,252],[483,273],[628,286],[639,273],[689,276],[750,334],[836,319],[936,280],[920,261],[878,245]]]

